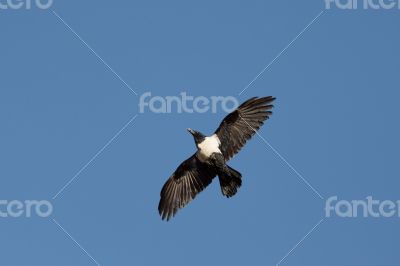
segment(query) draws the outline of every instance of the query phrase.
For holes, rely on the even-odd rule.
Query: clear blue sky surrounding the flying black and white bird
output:
[[[53,10],[139,96],[276,96],[260,134],[323,198],[400,199],[400,10],[326,10],[240,96],[324,1],[0,10],[0,198],[54,204],[46,219],[0,220],[1,265],[276,265],[303,238],[281,265],[398,265],[400,218],[324,218],[325,201],[259,137],[230,163],[237,196],[215,180],[161,221],[159,191],[195,150],[186,128],[210,134],[222,112],[140,114],[52,200],[139,111]]]

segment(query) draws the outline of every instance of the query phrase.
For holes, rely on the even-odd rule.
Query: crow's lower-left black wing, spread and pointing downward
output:
[[[158,211],[167,221],[192,201],[216,176],[215,170],[200,162],[196,155],[181,163],[161,190]]]

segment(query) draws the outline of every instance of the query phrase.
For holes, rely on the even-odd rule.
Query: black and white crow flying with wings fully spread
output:
[[[242,175],[229,161],[264,124],[273,108],[274,97],[253,97],[227,115],[212,136],[188,129],[197,152],[184,161],[161,190],[158,211],[164,220],[192,201],[218,176],[222,194],[232,197],[242,185]]]

